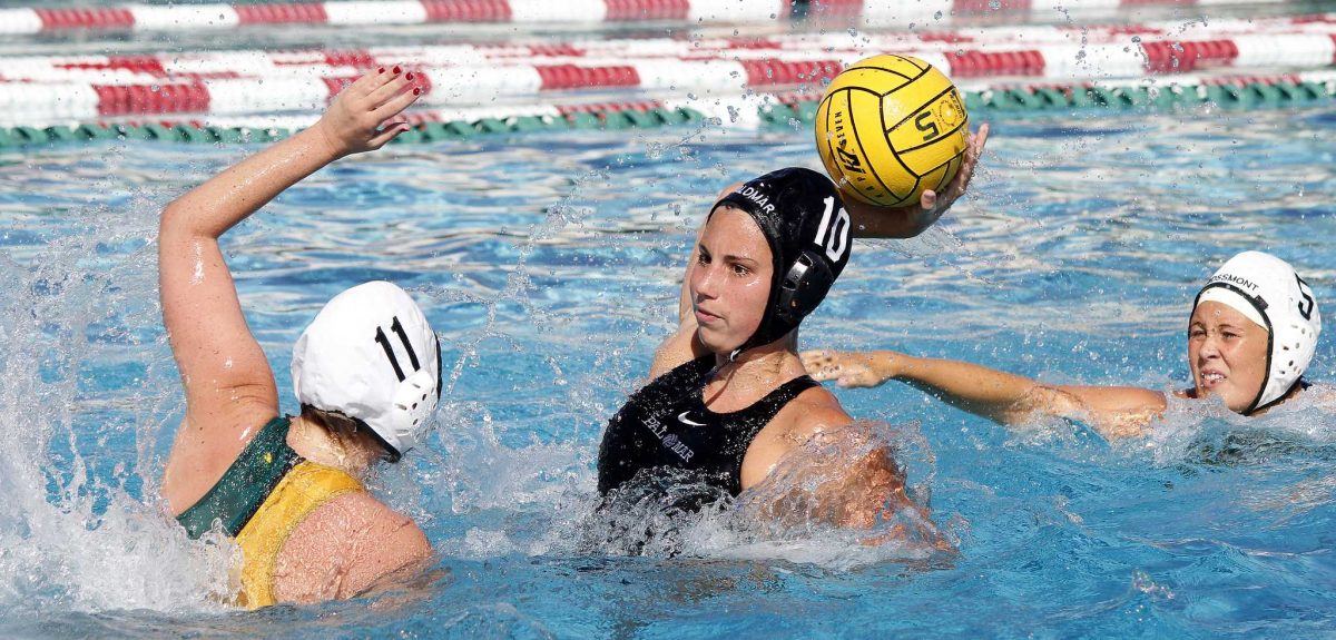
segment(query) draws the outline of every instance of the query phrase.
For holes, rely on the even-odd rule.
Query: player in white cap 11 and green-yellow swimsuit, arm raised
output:
[[[440,346],[399,287],[369,282],[331,299],[293,349],[297,417],[242,315],[218,238],[285,188],[401,131],[413,73],[379,69],[339,94],[311,128],[168,204],[158,234],[163,322],[186,417],[162,493],[192,537],[220,526],[243,554],[239,601],[350,597],[430,556],[410,518],[361,480],[429,425]],[[386,123],[382,126],[382,123]]]

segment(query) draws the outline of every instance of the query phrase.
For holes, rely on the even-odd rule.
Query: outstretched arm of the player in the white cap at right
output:
[[[1105,438],[1140,436],[1164,413],[1160,391],[1130,386],[1043,385],[1023,375],[970,362],[915,358],[895,351],[804,351],[803,365],[816,379],[839,386],[906,382],[977,416],[1015,425],[1035,414],[1077,417]]]

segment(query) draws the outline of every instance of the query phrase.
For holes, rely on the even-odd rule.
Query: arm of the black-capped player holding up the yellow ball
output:
[[[965,147],[965,159],[961,160],[961,170],[955,178],[942,190],[941,194],[927,190],[919,196],[916,207],[878,207],[868,204],[852,195],[844,196],[844,208],[854,219],[855,238],[914,238],[931,227],[957,198],[965,195],[974,178],[974,167],[983,154],[983,146],[989,142],[989,126],[979,127],[978,134],[970,135],[970,143]]]

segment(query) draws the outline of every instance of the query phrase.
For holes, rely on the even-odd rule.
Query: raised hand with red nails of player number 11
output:
[[[395,116],[421,95],[420,87],[409,90],[413,79],[399,67],[369,71],[339,92],[314,128],[338,158],[378,150],[407,131]]]

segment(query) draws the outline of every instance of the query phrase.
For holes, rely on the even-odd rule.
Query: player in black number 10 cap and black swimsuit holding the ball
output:
[[[986,130],[941,199],[912,211],[870,206],[850,218],[835,184],[806,168],[774,171],[725,190],[691,253],[680,325],[655,354],[651,382],[612,417],[599,450],[599,490],[673,478],[733,496],[760,482],[784,454],[852,418],[806,375],[798,326],[848,262],[855,231],[918,232],[969,183]],[[900,222],[874,227],[868,215]],[[863,224],[868,220],[868,224]],[[883,452],[884,453],[884,452]],[[883,505],[911,505],[888,454],[856,465],[887,488]],[[637,478],[639,477],[639,478]],[[838,524],[870,525],[867,513]]]

